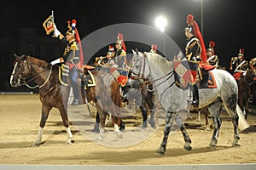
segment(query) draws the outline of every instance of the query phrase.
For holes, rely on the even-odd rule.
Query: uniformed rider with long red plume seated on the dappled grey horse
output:
[[[194,16],[192,14],[187,16],[187,25],[188,26],[183,30],[185,36],[187,37],[187,44],[183,49],[183,52],[180,52],[177,55],[176,59],[181,60],[182,62],[187,60],[187,64],[183,62],[183,66],[189,70],[189,76],[187,78],[178,77],[179,82],[176,81],[176,84],[183,86],[183,83],[185,83],[183,87],[186,87],[189,82],[189,84],[192,86],[193,100],[188,99],[188,103],[194,105],[194,107],[197,107],[199,105],[199,94],[197,87],[197,82],[199,80],[199,65],[200,63],[207,62],[207,50],[205,48],[203,38],[201,37],[199,26],[195,22]],[[183,54],[185,54],[185,56]],[[177,76],[181,67],[178,64],[174,65],[174,67],[177,72]],[[185,74],[187,74],[187,72],[188,71],[186,71]]]

